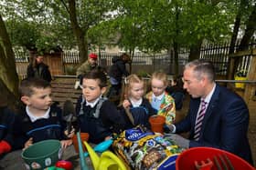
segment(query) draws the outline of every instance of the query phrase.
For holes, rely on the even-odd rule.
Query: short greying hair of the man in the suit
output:
[[[211,82],[215,81],[215,67],[213,63],[206,59],[197,59],[185,65],[185,69],[193,67],[194,72],[197,74],[197,79],[201,78],[201,75],[205,74],[208,76],[208,80]]]

